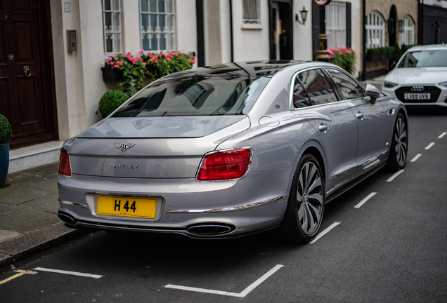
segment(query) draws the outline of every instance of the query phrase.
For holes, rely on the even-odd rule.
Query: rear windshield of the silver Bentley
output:
[[[247,114],[269,80],[239,75],[168,76],[131,97],[113,117]]]

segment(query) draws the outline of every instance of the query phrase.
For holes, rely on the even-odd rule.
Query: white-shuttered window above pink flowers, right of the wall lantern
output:
[[[346,46],[346,3],[331,1],[325,7],[328,48]]]

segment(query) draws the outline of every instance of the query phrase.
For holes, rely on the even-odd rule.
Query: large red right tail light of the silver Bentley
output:
[[[243,177],[250,167],[250,148],[206,154],[197,173],[197,181],[232,180]]]

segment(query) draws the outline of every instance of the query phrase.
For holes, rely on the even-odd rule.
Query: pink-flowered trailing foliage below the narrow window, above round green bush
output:
[[[106,67],[110,66],[122,71],[122,82],[119,83],[119,86],[122,87],[124,93],[127,93],[129,97],[143,88],[143,81],[147,75],[145,65],[141,57],[134,57],[131,53],[116,57],[110,55],[105,59]]]

